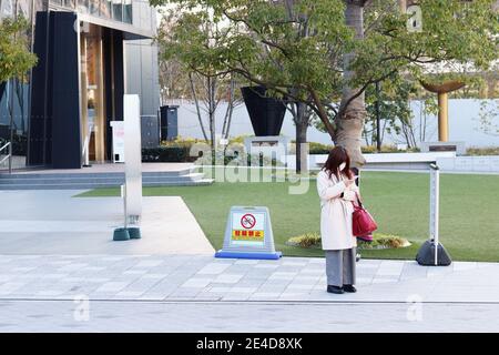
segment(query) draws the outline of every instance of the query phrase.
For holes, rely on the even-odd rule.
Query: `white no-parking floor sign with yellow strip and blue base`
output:
[[[267,207],[233,206],[225,227],[224,246],[215,257],[277,260]]]

